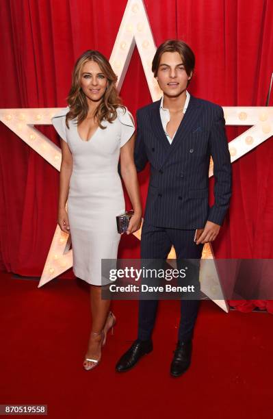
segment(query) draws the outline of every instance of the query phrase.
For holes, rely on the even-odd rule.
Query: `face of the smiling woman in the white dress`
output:
[[[107,78],[98,63],[88,61],[83,65],[81,88],[90,101],[98,102],[101,100],[107,88]]]

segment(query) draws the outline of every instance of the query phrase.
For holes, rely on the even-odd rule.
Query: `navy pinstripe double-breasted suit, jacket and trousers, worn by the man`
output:
[[[195,229],[207,220],[222,225],[231,197],[231,159],[222,107],[191,95],[187,111],[168,142],[160,100],[137,112],[135,166],[151,164],[141,257],[166,259],[172,244],[177,259],[200,259],[203,245],[194,243]],[[209,161],[215,177],[212,207],[208,204]],[[179,340],[192,338],[199,301],[181,301]],[[151,338],[157,301],[140,301],[138,338]]]

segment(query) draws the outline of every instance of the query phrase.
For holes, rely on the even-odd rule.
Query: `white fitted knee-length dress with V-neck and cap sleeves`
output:
[[[66,107],[52,118],[53,126],[73,155],[68,192],[68,220],[73,249],[73,272],[93,285],[103,285],[101,259],[116,259],[120,234],[116,216],[125,212],[118,175],[120,147],[135,127],[126,108],[118,107],[113,123],[103,121],[90,140],[81,140],[77,119],[66,127]],[[132,118],[132,119],[131,119]]]

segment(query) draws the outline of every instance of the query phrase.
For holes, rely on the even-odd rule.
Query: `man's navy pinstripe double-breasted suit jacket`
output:
[[[151,163],[145,220],[156,227],[197,229],[222,225],[231,198],[231,158],[222,107],[191,95],[172,144],[162,127],[160,101],[137,112],[135,166]],[[209,162],[215,177],[208,203]]]

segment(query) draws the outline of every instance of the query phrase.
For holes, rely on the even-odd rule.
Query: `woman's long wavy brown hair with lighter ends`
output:
[[[103,95],[103,100],[96,108],[94,113],[94,118],[99,123],[99,127],[105,129],[101,125],[103,120],[107,120],[109,123],[112,123],[116,117],[117,107],[122,107],[125,110],[125,107],[122,106],[121,99],[118,95],[118,90],[116,88],[116,81],[118,77],[114,73],[112,66],[105,56],[99,51],[88,49],[85,51],[78,59],[73,69],[72,75],[72,85],[70,92],[67,97],[67,103],[70,107],[69,112],[66,114],[66,126],[68,127],[68,120],[77,118],[77,123],[81,123],[88,114],[88,102],[86,100],[86,95],[81,89],[81,75],[83,73],[82,69],[84,64],[88,61],[94,61],[99,64],[101,72],[107,78],[107,88]],[[68,127],[69,128],[69,127]]]

